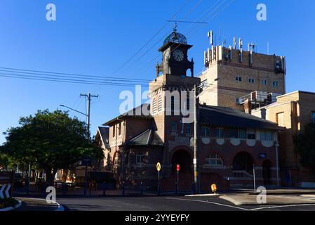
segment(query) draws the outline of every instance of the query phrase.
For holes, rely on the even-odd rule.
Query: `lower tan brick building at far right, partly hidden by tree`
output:
[[[275,103],[252,110],[251,113],[286,127],[286,131],[279,135],[281,184],[314,188],[314,169],[301,167],[293,140],[305,125],[315,123],[315,93],[294,91],[277,97]]]

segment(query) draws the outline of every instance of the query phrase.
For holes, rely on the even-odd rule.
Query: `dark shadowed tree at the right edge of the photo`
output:
[[[307,124],[295,137],[295,150],[300,154],[303,167],[315,167],[315,124]]]

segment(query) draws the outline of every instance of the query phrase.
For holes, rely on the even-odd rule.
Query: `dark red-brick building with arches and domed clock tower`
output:
[[[109,127],[112,169],[120,185],[125,182],[138,188],[142,182],[145,188],[156,189],[156,163],[161,162],[161,191],[175,191],[176,165],[180,165],[180,191],[192,191],[194,123],[183,122],[187,115],[181,110],[184,105],[192,111],[194,99],[188,91],[199,86],[201,78],[194,77],[194,60],[188,59],[190,48],[185,36],[175,29],[159,49],[162,60],[156,65],[156,79],[149,84],[150,104],[104,124]],[[279,75],[280,83],[283,77]],[[283,87],[270,91],[276,90],[284,92]],[[253,166],[257,184],[277,184],[276,141],[283,128],[235,108],[198,104],[197,162],[202,191],[208,191],[213,183],[219,190],[253,186]]]

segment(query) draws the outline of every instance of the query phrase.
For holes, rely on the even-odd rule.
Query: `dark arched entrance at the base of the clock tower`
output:
[[[180,165],[181,173],[192,172],[192,156],[187,150],[177,150],[172,156],[172,173],[176,172],[176,165]]]

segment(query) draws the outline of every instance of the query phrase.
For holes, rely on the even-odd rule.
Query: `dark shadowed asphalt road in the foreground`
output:
[[[58,198],[57,202],[69,211],[315,211],[315,204],[236,206],[217,196]]]

